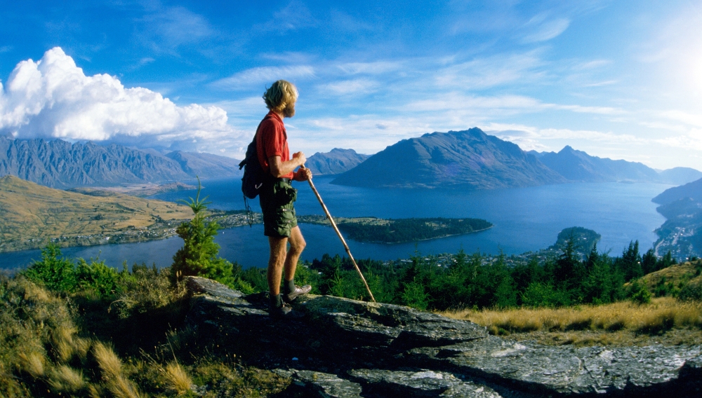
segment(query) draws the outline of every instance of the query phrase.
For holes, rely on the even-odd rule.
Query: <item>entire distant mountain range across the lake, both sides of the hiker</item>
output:
[[[0,176],[14,175],[56,188],[239,177],[238,160],[211,153],[160,153],[117,144],[0,137]],[[689,167],[657,171],[565,146],[559,152],[522,151],[479,128],[432,132],[403,139],[373,156],[332,149],[307,159],[315,175],[334,175],[348,186],[477,189],[564,182],[685,184],[702,178]]]

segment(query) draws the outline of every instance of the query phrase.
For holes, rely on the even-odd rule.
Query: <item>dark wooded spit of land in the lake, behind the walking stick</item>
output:
[[[298,216],[302,223],[330,225],[324,216]],[[336,225],[344,235],[357,242],[405,243],[418,240],[446,238],[485,231],[492,228],[483,219],[378,219],[376,217],[338,217]]]

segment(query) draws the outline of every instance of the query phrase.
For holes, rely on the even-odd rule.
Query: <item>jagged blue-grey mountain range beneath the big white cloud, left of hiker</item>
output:
[[[238,160],[209,153],[160,156],[117,144],[102,146],[61,139],[0,137],[0,176],[14,175],[44,186],[117,185],[240,175]]]

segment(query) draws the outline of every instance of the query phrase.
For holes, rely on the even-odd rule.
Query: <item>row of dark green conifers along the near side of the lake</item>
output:
[[[437,257],[416,254],[409,263],[359,261],[359,267],[376,300],[422,310],[463,308],[560,307],[604,304],[623,299],[646,302],[651,292],[636,280],[646,273],[676,263],[666,254],[658,259],[652,249],[643,255],[639,243],[631,242],[621,256],[610,256],[592,248],[578,259],[574,241],[569,240],[559,256],[509,266],[506,257],[487,256],[463,250],[451,256],[448,265]],[[234,272],[254,290],[266,291],[265,270],[249,268]],[[312,293],[350,299],[369,299],[352,263],[346,257],[329,256],[298,267],[296,280],[312,284]],[[675,287],[663,285],[656,295],[670,294]]]

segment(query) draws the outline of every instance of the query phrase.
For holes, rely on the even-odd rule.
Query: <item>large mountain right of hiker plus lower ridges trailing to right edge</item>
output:
[[[685,184],[699,178],[702,172],[689,167],[659,172],[643,163],[590,156],[571,146],[559,152],[524,152],[472,128],[404,139],[340,174],[332,184],[491,189],[562,182]]]

